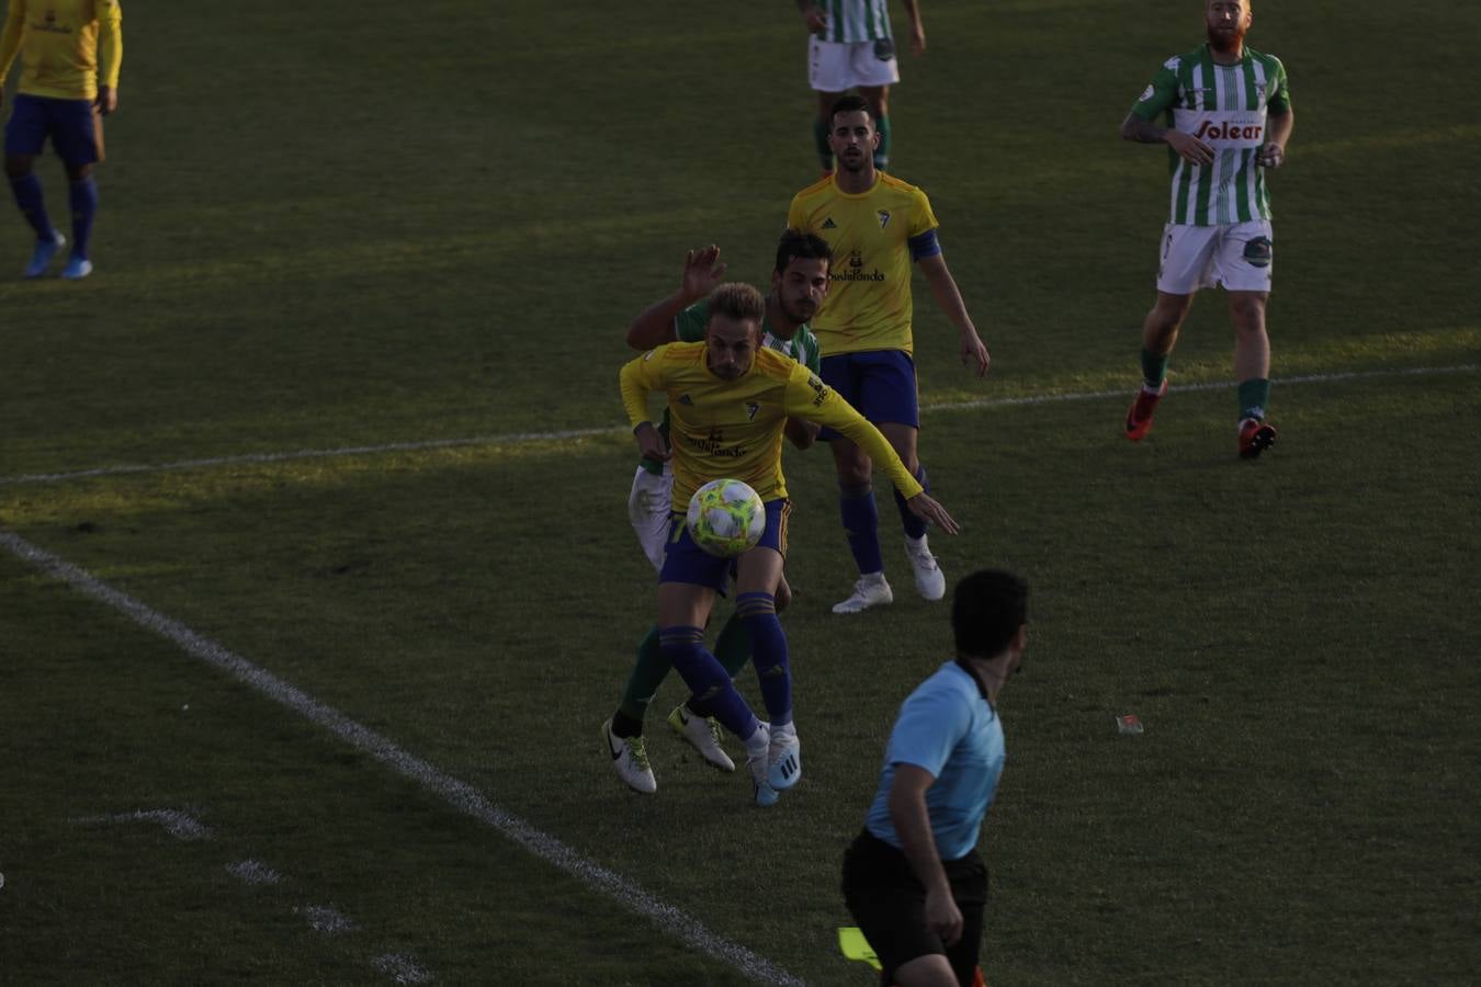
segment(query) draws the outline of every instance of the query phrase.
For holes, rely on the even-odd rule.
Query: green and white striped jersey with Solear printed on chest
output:
[[[1265,144],[1266,112],[1291,108],[1286,67],[1246,46],[1235,65],[1219,65],[1207,44],[1167,59],[1131,112],[1166,114],[1167,126],[1214,149],[1213,164],[1189,164],[1171,148],[1171,222],[1222,226],[1271,218],[1265,170],[1254,155]]]

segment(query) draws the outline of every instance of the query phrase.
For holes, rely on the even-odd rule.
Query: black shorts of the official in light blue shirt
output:
[[[972,851],[960,860],[943,860],[951,897],[961,909],[961,938],[948,949],[926,928],[926,888],[915,879],[903,851],[863,830],[843,855],[843,900],[869,940],[884,971],[881,984],[895,983],[895,971],[920,956],[940,953],[957,974],[957,983],[972,987],[982,950],[982,910],[988,903],[988,867]]]

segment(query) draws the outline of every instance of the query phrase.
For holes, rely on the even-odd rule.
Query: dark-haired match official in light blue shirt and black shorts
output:
[[[881,984],[982,983],[988,869],[982,818],[1003,774],[994,703],[1023,661],[1028,586],[983,570],[957,583],[957,657],[900,706],[863,832],[843,863],[843,894],[884,971]]]

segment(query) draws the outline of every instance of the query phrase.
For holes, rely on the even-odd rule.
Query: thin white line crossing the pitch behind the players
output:
[[[1290,386],[1296,383],[1340,383],[1343,380],[1367,380],[1371,377],[1413,377],[1435,376],[1450,373],[1474,373],[1478,364],[1460,364],[1456,367],[1410,367],[1404,370],[1357,370],[1352,373],[1312,373],[1296,377],[1275,377],[1274,386]],[[1183,391],[1225,391],[1234,389],[1232,383],[1189,383],[1169,388],[1169,394]],[[1136,392],[1136,386],[1118,391],[1078,391],[1072,394],[1031,394],[1022,398],[974,398],[972,401],[945,401],[942,404],[923,404],[921,413],[936,411],[973,411],[977,408],[1006,408],[1032,404],[1060,404],[1066,401],[1099,401],[1102,398],[1126,398]],[[59,474],[21,474],[18,476],[0,476],[0,487],[16,487],[21,484],[49,484],[62,479],[87,479],[89,476],[120,476],[127,474],[163,474],[176,469],[201,469],[210,466],[233,466],[237,463],[284,463],[298,459],[335,459],[341,456],[376,456],[381,453],[422,453],[434,448],[459,448],[467,445],[524,445],[532,442],[558,442],[569,438],[594,438],[598,435],[625,435],[626,426],[564,429],[557,432],[512,432],[508,435],[474,435],[469,438],[437,438],[419,442],[387,442],[382,445],[344,445],[339,448],[301,448],[283,453],[243,453],[240,456],[215,456],[210,459],[182,459],[172,463],[123,463],[118,466],[95,466],[92,469],[74,469]]]

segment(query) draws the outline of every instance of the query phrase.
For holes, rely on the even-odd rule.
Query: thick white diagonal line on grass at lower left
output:
[[[788,986],[801,986],[804,983],[769,959],[711,932],[698,919],[668,904],[666,901],[653,897],[635,882],[618,875],[616,872],[607,870],[601,864],[586,860],[549,833],[535,829],[511,812],[505,812],[499,806],[489,802],[489,799],[471,784],[438,771],[421,758],[401,750],[381,734],[369,730],[367,727],[361,727],[339,710],[320,703],[317,698],[298,687],[289,685],[267,669],[262,669],[241,656],[228,651],[219,644],[200,636],[185,624],[172,620],[164,614],[151,610],[133,596],[108,586],[86,570],[81,570],[71,562],[31,545],[10,531],[0,531],[0,546],[4,546],[10,553],[44,571],[47,576],[68,583],[73,589],[92,596],[93,599],[108,604],[133,620],[136,624],[167,638],[179,645],[187,654],[218,667],[246,685],[250,685],[274,703],[286,706],[305,719],[318,724],[333,734],[338,734],[351,746],[369,753],[372,758],[390,767],[395,772],[418,781],[434,795],[441,796],[444,802],[452,805],[459,812],[492,826],[499,833],[515,843],[520,843],[541,860],[560,867],[592,891],[606,894],[622,907],[646,916],[661,929],[683,940],[701,953],[730,963],[757,983]],[[135,812],[121,818],[154,818],[156,815],[167,815],[173,818],[181,814]],[[120,817],[101,818],[113,820]],[[194,823],[194,820],[191,820],[191,823]]]

